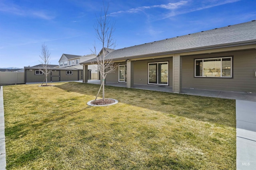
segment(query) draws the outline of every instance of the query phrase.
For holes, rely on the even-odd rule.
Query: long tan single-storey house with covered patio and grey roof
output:
[[[256,92],[256,21],[117,49],[106,55],[119,64],[106,82]],[[83,82],[95,59],[82,62]]]

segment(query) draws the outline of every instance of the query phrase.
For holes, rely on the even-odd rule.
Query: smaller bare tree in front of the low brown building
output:
[[[39,55],[40,59],[39,62],[42,64],[42,68],[39,68],[39,70],[45,74],[45,79],[46,80],[46,86],[47,86],[47,76],[51,72],[50,68],[50,53],[48,51],[47,45],[44,43],[42,44],[42,49],[41,49],[41,55]],[[43,84],[44,82],[42,82]]]

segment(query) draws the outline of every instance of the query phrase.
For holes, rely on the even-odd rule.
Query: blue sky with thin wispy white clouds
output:
[[[256,0],[105,0],[116,48],[256,19]],[[91,54],[102,0],[0,0],[0,68],[40,64],[41,45],[58,64],[63,53]]]

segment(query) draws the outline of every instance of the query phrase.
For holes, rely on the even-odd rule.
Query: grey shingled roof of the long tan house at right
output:
[[[128,59],[157,55],[161,53],[181,53],[226,45],[256,44],[256,21],[229,25],[179,37],[154,41],[112,51],[106,59]],[[88,64],[91,61],[80,64]]]

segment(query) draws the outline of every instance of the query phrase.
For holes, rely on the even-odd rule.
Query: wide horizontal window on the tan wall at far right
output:
[[[232,57],[195,60],[195,77],[232,77]]]

